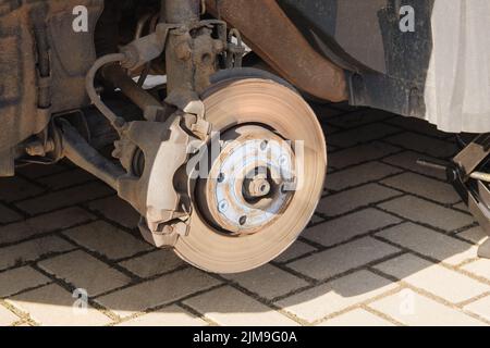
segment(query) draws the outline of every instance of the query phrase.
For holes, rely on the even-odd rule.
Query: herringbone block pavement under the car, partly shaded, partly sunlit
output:
[[[415,164],[450,158],[454,138],[384,112],[317,109],[324,197],[291,250],[245,274],[152,249],[128,206],[69,164],[0,179],[0,325],[490,324],[485,236],[441,173]],[[73,309],[76,288],[86,311]]]

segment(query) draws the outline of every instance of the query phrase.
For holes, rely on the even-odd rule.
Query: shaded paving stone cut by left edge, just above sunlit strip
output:
[[[0,273],[0,298],[15,295],[25,289],[51,283],[51,279],[34,270],[24,266]]]

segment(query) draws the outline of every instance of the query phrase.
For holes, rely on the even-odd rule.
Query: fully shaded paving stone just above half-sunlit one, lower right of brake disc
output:
[[[395,254],[400,249],[366,237],[287,264],[296,272],[326,279]]]

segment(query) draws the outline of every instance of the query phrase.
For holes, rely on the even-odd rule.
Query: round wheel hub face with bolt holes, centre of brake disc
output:
[[[278,219],[294,195],[294,152],[287,141],[261,126],[224,134],[224,146],[200,185],[209,222],[240,236]]]

